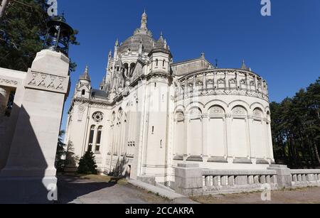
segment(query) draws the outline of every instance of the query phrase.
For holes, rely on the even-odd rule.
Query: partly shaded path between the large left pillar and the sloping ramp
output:
[[[127,184],[123,180],[58,176],[60,204],[169,204],[170,200]]]

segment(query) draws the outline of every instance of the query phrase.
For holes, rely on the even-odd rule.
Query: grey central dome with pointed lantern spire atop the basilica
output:
[[[146,11],[144,11],[140,28],[134,31],[134,36],[127,38],[127,40],[119,46],[119,53],[138,52],[140,45],[143,46],[145,52],[151,52],[156,40],[152,38],[152,33],[146,26],[147,21],[148,16],[146,15]]]

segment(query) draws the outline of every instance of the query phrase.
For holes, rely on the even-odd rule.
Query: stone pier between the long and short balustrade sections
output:
[[[270,165],[270,168],[267,168],[267,170],[277,171],[277,182],[280,188],[292,187],[291,171],[287,168],[287,165]]]

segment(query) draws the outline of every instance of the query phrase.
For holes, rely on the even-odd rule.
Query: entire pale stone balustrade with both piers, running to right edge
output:
[[[198,164],[178,164],[174,185],[176,192],[188,196],[320,186],[320,169],[290,170],[286,165],[270,165],[267,170],[210,170]]]

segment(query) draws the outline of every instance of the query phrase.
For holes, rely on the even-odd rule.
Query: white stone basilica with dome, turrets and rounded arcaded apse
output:
[[[80,77],[65,138],[75,155],[91,150],[101,172],[123,163],[131,178],[165,184],[178,163],[266,170],[274,163],[267,82],[244,62],[222,69],[204,54],[174,62],[146,23],[144,12],[134,35],[115,43],[99,89],[88,67]]]

